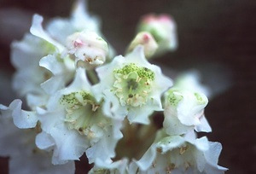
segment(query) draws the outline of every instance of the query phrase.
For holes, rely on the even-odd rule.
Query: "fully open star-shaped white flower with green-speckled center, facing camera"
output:
[[[109,117],[124,119],[131,123],[148,124],[148,116],[161,111],[161,94],[172,85],[160,67],[145,59],[143,46],[131,54],[115,57],[111,63],[96,69],[100,84],[96,84],[96,97],[104,94],[104,113]]]

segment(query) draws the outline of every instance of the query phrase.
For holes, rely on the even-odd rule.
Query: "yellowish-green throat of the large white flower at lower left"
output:
[[[79,131],[89,139],[101,136],[102,128],[109,124],[108,118],[102,117],[100,104],[86,91],[64,95],[60,102],[66,107],[68,128]]]

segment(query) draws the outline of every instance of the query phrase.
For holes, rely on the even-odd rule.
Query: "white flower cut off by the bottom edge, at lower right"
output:
[[[167,136],[160,131],[153,145],[131,168],[137,173],[207,173],[221,174],[226,168],[218,165],[221,144],[208,142],[195,135]]]

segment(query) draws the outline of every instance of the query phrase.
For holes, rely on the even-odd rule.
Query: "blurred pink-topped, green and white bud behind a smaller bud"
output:
[[[156,54],[177,48],[176,24],[168,14],[148,14],[138,26],[139,32],[150,32],[159,44]]]

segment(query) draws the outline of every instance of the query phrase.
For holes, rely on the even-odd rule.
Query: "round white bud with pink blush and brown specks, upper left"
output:
[[[77,67],[93,69],[106,61],[108,44],[96,32],[75,32],[67,37],[67,53],[74,56]]]

